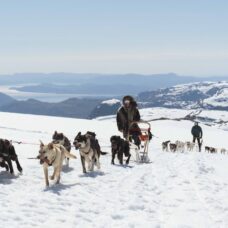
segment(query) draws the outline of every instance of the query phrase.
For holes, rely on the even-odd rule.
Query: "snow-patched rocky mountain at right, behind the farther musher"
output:
[[[143,92],[146,107],[228,110],[228,82],[201,82]]]

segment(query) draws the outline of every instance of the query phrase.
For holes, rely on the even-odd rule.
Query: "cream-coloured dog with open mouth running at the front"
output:
[[[63,160],[65,157],[76,159],[75,155],[70,154],[66,148],[60,144],[49,143],[47,145],[44,145],[43,142],[40,142],[40,150],[37,158],[40,159],[40,164],[43,165],[46,186],[49,186],[49,166],[53,166],[54,168],[54,172],[50,179],[56,179],[56,184],[59,183]]]

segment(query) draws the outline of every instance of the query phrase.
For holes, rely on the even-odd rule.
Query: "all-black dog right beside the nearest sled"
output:
[[[129,164],[130,161],[130,146],[129,142],[125,141],[122,139],[120,136],[112,136],[110,138],[111,142],[111,147],[112,147],[112,161],[111,164],[115,164],[115,156],[117,154],[117,158],[119,160],[119,163],[122,165],[123,164],[123,155],[127,157],[126,164]]]

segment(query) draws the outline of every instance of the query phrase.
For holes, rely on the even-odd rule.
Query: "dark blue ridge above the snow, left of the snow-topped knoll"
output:
[[[86,119],[100,102],[99,99],[72,98],[59,103],[47,103],[29,99],[3,105],[0,111]]]

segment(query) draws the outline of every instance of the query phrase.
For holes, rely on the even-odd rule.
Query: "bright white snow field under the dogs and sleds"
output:
[[[147,109],[142,115],[151,119],[162,111]],[[166,113],[182,116],[180,110]],[[84,175],[77,159],[64,168],[61,184],[45,188],[39,162],[27,159],[38,154],[39,139],[49,142],[58,130],[73,140],[78,131],[91,130],[103,151],[110,152],[109,138],[119,134],[115,119],[12,113],[0,113],[0,119],[1,138],[24,142],[15,144],[23,174],[15,169],[11,176],[0,169],[0,227],[228,227],[228,154],[161,151],[162,141],[191,140],[189,121],[152,122],[156,138],[150,144],[149,164],[112,166],[106,155],[100,171]],[[227,131],[202,127],[205,145],[228,149]],[[74,149],[72,153],[78,155]]]

